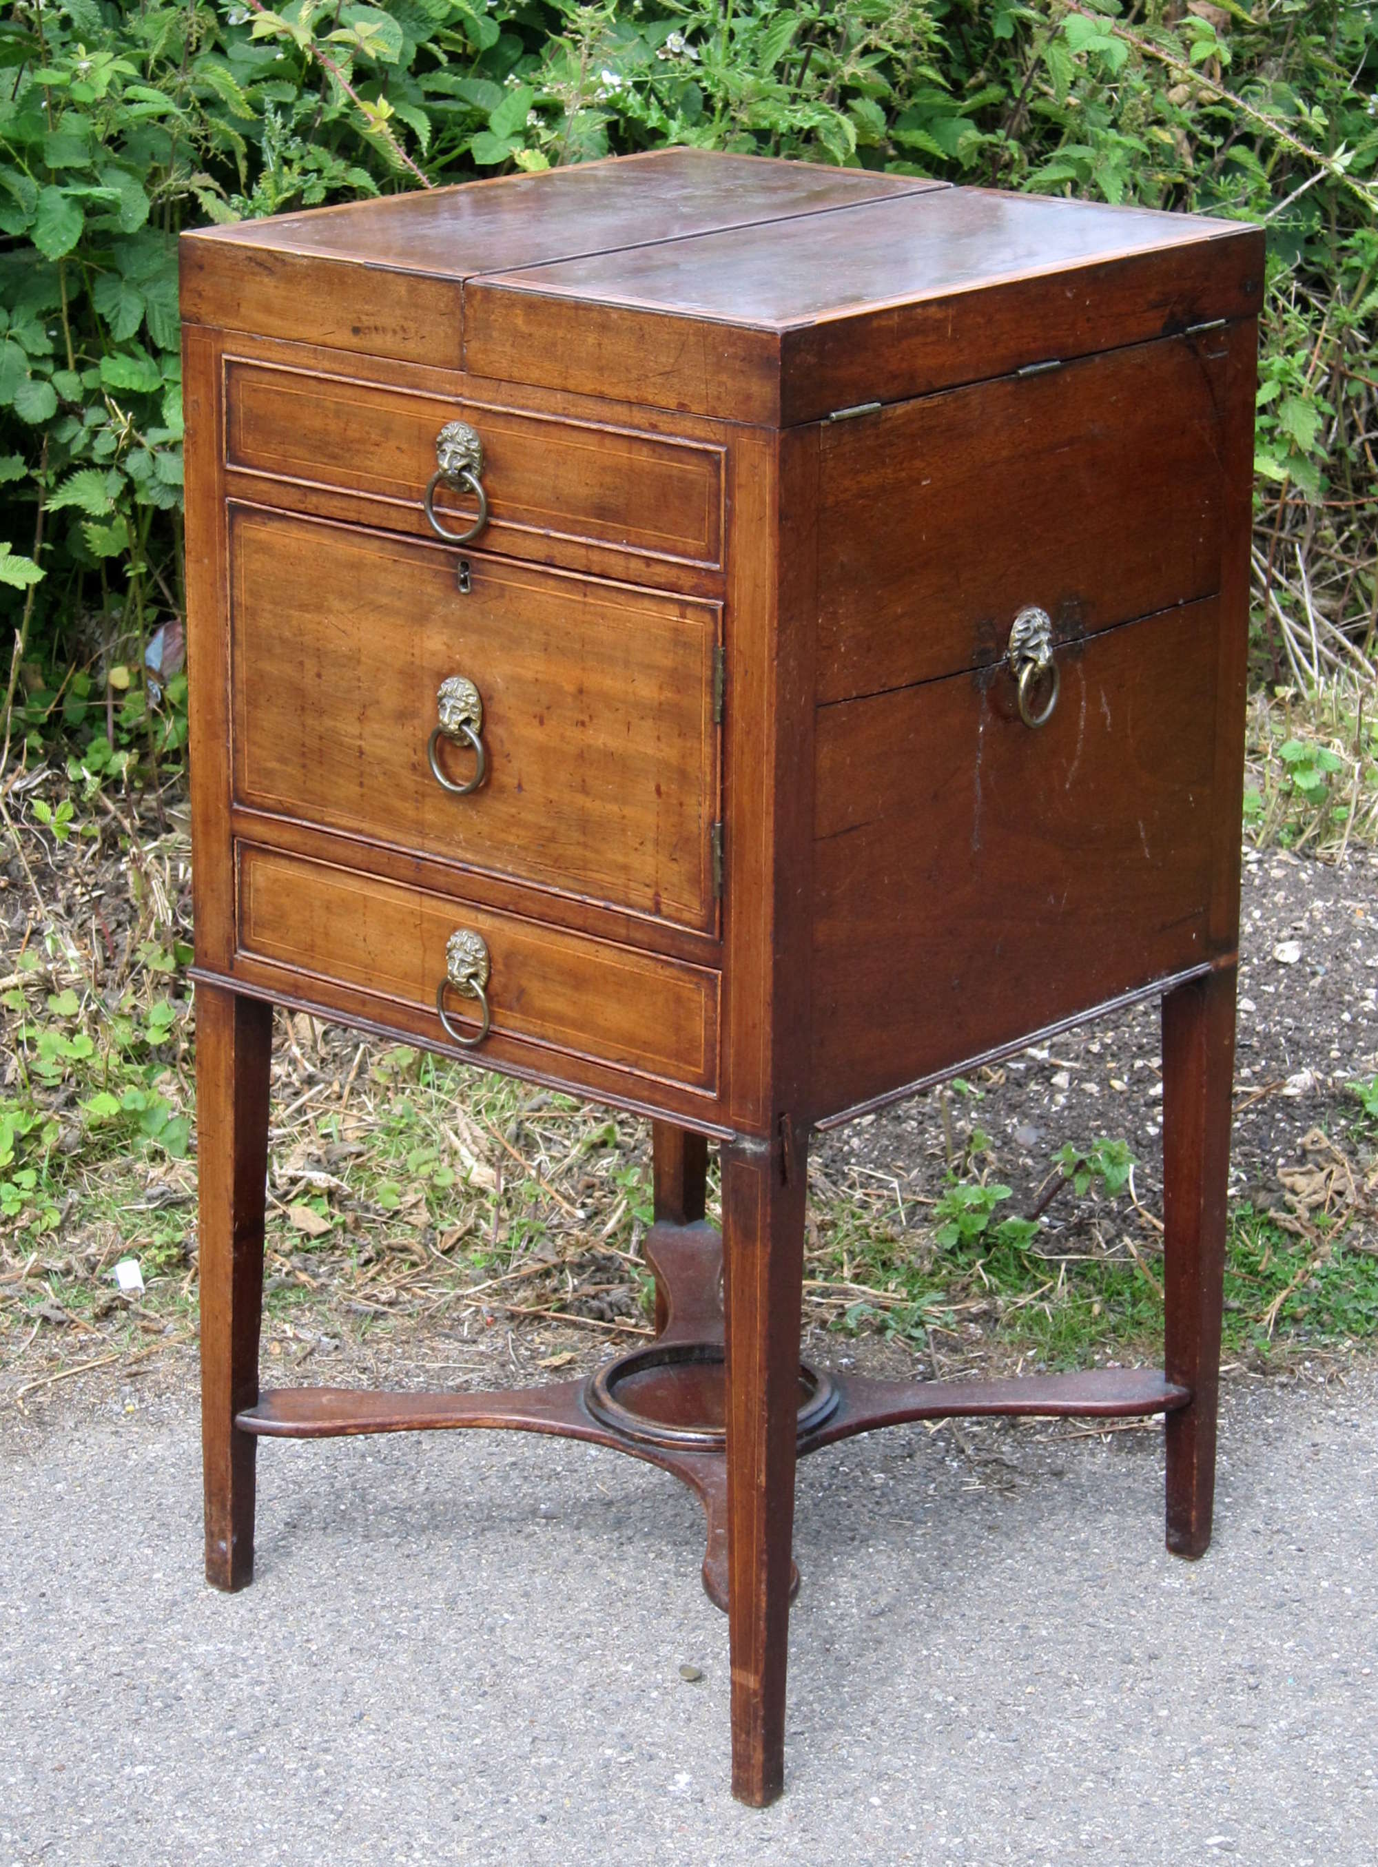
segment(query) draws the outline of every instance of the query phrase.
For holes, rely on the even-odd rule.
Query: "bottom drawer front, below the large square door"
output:
[[[360,876],[278,849],[237,846],[235,971],[267,962],[312,1003],[368,1016],[448,1046],[435,995],[446,943],[459,930],[487,947],[491,1032],[476,1062],[525,1064],[560,1081],[579,1060],[711,1094],[717,1085],[719,978],[495,913],[469,902]],[[476,1034],[476,1003],[446,993],[446,1012]],[[562,1060],[564,1059],[564,1060]]]

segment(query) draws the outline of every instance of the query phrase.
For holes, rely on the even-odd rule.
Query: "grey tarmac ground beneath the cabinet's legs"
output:
[[[726,1622],[661,1473],[265,1445],[226,1598],[185,1382],[65,1389],[0,1471],[0,1867],[1378,1861],[1372,1363],[1227,1385],[1197,1565],[1163,1551],[1158,1430],[809,1460],[766,1813],[728,1796]]]

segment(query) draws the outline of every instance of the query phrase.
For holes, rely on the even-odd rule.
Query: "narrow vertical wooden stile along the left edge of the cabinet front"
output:
[[[230,849],[230,592],[220,484],[220,340],[183,325],[187,416],[187,708],[196,962],[226,973],[233,954]]]

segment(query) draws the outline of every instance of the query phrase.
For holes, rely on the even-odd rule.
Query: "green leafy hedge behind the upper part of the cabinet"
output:
[[[663,144],[1266,222],[1260,653],[1296,525],[1378,612],[1372,7],[17,0],[0,75],[4,734],[84,782],[185,739],[177,233]]]

